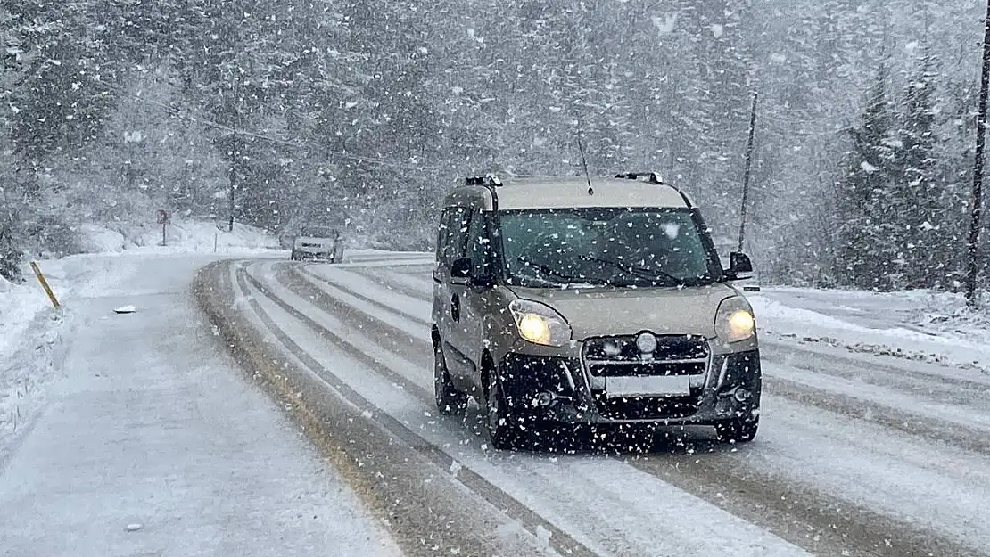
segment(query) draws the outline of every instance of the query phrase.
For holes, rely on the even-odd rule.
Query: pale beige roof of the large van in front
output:
[[[494,209],[492,192],[498,196],[498,209],[571,209],[590,207],[689,208],[691,200],[677,188],[615,177],[592,177],[593,194],[582,177],[526,177],[506,179],[501,185],[464,186],[446,198],[446,206],[476,206]],[[480,197],[480,199],[479,199]]]

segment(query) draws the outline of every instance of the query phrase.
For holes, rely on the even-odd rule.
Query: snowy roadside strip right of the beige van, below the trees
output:
[[[990,313],[967,310],[958,295],[776,287],[746,297],[771,338],[990,373]]]

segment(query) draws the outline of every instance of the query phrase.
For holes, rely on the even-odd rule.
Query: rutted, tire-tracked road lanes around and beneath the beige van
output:
[[[985,374],[776,338],[764,344],[763,427],[749,445],[719,445],[699,429],[672,433],[652,454],[498,453],[477,409],[462,420],[433,408],[429,256],[242,262],[202,278],[215,319],[264,346],[255,365],[324,416],[325,432],[367,475],[395,477],[399,455],[417,461],[416,477],[432,483],[417,495],[433,518],[453,521],[382,501],[391,489],[375,497],[396,523],[432,524],[439,548],[990,555]],[[351,414],[334,410],[342,399]]]

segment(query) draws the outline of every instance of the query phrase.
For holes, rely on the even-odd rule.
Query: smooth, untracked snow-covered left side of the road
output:
[[[205,323],[189,284],[211,260],[76,261],[103,278],[67,301],[64,377],[0,454],[0,555],[399,554]]]

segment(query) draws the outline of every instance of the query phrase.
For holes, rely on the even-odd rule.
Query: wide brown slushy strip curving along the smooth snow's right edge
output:
[[[236,262],[220,262],[201,271],[194,284],[215,334],[301,423],[355,490],[372,498],[403,545],[404,555],[557,554],[542,540],[534,543],[529,533],[519,535],[523,530],[513,528],[503,510],[478,505],[476,496],[468,496],[448,474],[421,462],[419,453],[411,452],[368,411],[361,412],[327,378],[286,352],[279,335],[288,338],[260,308],[238,276],[239,269]],[[304,360],[319,366],[296,349]],[[471,512],[465,514],[465,509]]]

